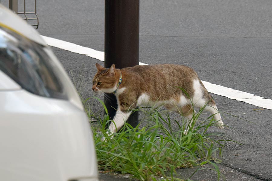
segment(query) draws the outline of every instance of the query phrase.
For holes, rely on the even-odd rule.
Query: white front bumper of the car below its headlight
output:
[[[1,180],[97,178],[85,113],[67,100],[0,92]]]

